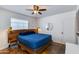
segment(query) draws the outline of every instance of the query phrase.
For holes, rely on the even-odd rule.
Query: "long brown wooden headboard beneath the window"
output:
[[[8,33],[8,42],[12,43],[17,41],[17,36],[20,32],[30,32],[30,31],[34,31],[34,32],[38,32],[37,29],[23,29],[23,30],[13,30],[12,32]]]

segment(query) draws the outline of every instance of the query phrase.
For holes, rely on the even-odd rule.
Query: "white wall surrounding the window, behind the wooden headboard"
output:
[[[36,20],[33,17],[24,16],[14,12],[9,12],[4,9],[0,9],[0,50],[8,47],[7,29],[8,27],[10,27],[11,17],[28,20],[29,28],[35,28],[37,26],[37,24],[35,23]]]

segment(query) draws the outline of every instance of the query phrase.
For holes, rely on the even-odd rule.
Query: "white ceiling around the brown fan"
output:
[[[32,9],[32,5],[1,5],[0,8],[16,12],[19,14],[24,14],[32,17],[46,17],[59,13],[69,12],[76,10],[76,5],[40,5],[40,8],[46,8],[47,11],[43,11],[42,15],[32,15],[32,11],[26,9]]]

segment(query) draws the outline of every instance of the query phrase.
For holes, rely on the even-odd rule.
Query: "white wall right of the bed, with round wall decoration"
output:
[[[75,43],[75,15],[76,11],[71,11],[39,19],[41,33],[49,33],[45,26],[47,23],[52,23],[51,34],[54,41]],[[64,32],[63,35],[62,32]]]

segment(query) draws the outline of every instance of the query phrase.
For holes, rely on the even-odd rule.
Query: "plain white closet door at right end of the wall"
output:
[[[63,19],[63,40],[68,43],[75,43],[75,12],[67,13]]]

